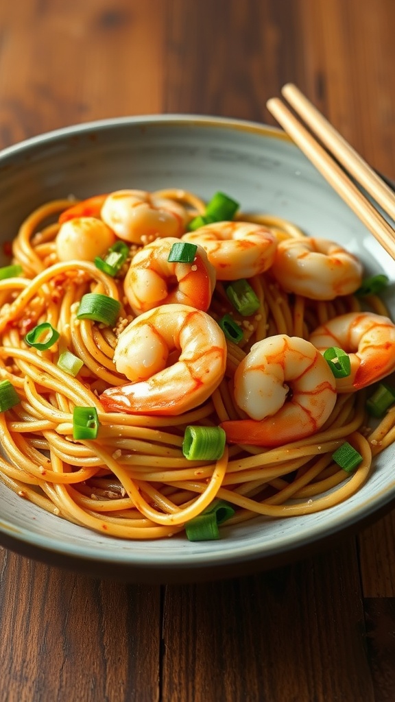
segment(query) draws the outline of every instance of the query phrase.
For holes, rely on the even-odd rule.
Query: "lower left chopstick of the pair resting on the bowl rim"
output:
[[[297,105],[296,102],[294,104]],[[339,194],[354,213],[356,213],[356,216],[358,216],[365,227],[370,230],[377,241],[380,241],[380,244],[387,253],[395,259],[395,232],[390,227],[389,223],[387,223],[387,220],[385,220],[375,206],[365,198],[361,190],[359,190],[347,174],[344,173],[343,168],[339,166],[335,159],[328,154],[327,150],[316,141],[310,131],[299,122],[299,119],[294,116],[282,100],[279,98],[271,98],[266,105],[269,112],[273,114],[273,117],[277,119],[278,123],[287,134],[290,135],[294,143],[297,144],[309,161],[316,166],[317,170],[320,171],[321,175],[328,181],[337,194]],[[304,113],[305,112],[306,106],[304,109]],[[321,133],[323,131],[322,124],[320,126],[320,131]],[[332,134],[331,139],[333,140],[333,138],[334,136]],[[339,158],[338,160],[340,162]],[[342,166],[347,168],[348,162],[349,159],[345,157],[342,160]],[[363,187],[365,187],[365,185]],[[368,190],[367,187],[365,187],[365,190],[370,194],[370,190]]]

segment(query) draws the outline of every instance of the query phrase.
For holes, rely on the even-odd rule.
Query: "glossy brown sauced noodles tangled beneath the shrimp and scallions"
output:
[[[191,217],[205,203],[193,194],[162,191],[182,201]],[[227,371],[212,397],[182,416],[160,417],[105,413],[98,395],[122,385],[112,362],[117,336],[133,315],[125,303],[122,275],[112,279],[89,262],[78,267],[56,259],[58,213],[70,200],[54,201],[34,211],[13,242],[13,263],[20,277],[0,281],[0,380],[9,380],[21,402],[0,413],[0,479],[21,498],[70,522],[121,538],[150,539],[183,531],[185,523],[214,498],[233,505],[228,524],[256,515],[286,517],[332,507],[354,494],[368,478],[372,458],[395,439],[395,411],[374,429],[366,428],[365,392],[338,395],[335,409],[320,432],[276,449],[230,446],[216,463],[189,461],[181,445],[187,425],[219,425],[240,418],[231,380],[251,345],[277,333],[308,338],[318,324],[358,311],[355,296],[331,302],[287,295],[268,274],[250,279],[260,300],[257,313],[235,319],[244,330],[240,344],[228,342]],[[300,236],[290,223],[274,217],[242,216],[263,223],[278,238]],[[131,256],[134,247],[131,246]],[[123,272],[124,274],[124,272]],[[103,293],[122,303],[117,326],[77,319],[86,292]],[[379,298],[369,304],[387,314]],[[209,313],[219,319],[229,311],[224,285],[216,284]],[[234,312],[234,311],[233,311]],[[24,341],[32,326],[49,322],[60,333],[49,350]],[[84,365],[76,378],[57,366],[70,350]],[[100,428],[95,440],[72,438],[75,406],[96,407]],[[363,460],[347,475],[332,453],[347,439]]]

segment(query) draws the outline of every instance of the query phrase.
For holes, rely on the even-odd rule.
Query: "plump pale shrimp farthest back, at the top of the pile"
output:
[[[119,239],[146,244],[156,237],[181,237],[188,220],[178,202],[145,190],[117,190],[105,198],[103,222]]]

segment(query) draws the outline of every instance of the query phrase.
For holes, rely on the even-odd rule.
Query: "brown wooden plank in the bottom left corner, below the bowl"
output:
[[[160,588],[97,581],[0,551],[3,702],[158,698]]]

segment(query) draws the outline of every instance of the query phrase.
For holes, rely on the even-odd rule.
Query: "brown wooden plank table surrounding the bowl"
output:
[[[394,0],[1,0],[0,145],[293,81],[395,178]],[[237,574],[235,574],[237,575]],[[275,571],[128,585],[0,550],[0,702],[395,699],[395,512]]]

